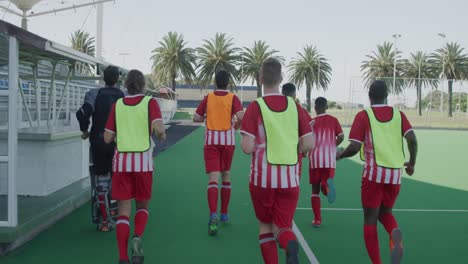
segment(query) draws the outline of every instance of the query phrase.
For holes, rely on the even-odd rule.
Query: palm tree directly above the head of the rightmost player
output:
[[[389,87],[390,93],[398,94],[403,90],[403,64],[396,64],[396,80],[393,87],[393,68],[395,59],[400,52],[395,52],[393,44],[384,42],[382,45],[377,45],[377,51],[372,51],[366,57],[368,60],[361,64],[361,71],[364,72],[366,87],[374,80],[383,80]]]

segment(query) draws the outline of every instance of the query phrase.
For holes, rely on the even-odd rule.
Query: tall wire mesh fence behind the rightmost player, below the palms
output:
[[[388,96],[388,104],[403,111],[410,122],[417,127],[463,128],[468,129],[468,81],[440,79],[380,78],[398,92]],[[452,83],[452,114],[449,116],[449,81]],[[416,86],[421,84],[421,111]],[[362,77],[353,77],[349,82],[347,102],[340,105],[342,110],[333,112],[344,125],[351,125],[354,116],[369,107],[368,83]]]

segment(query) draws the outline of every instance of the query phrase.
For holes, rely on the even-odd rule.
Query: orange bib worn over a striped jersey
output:
[[[218,96],[208,94],[206,111],[206,126],[209,130],[227,131],[232,127],[232,99],[233,93]]]

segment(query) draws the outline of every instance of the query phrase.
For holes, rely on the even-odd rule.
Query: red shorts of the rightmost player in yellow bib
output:
[[[364,208],[393,208],[400,193],[399,184],[385,184],[362,178],[361,202]]]

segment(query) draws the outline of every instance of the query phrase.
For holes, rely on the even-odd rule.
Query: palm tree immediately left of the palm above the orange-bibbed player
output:
[[[195,78],[195,50],[188,48],[184,36],[169,32],[159,41],[160,47],[152,51],[153,78],[158,84],[171,85],[175,91],[176,79],[181,77],[187,83]]]

